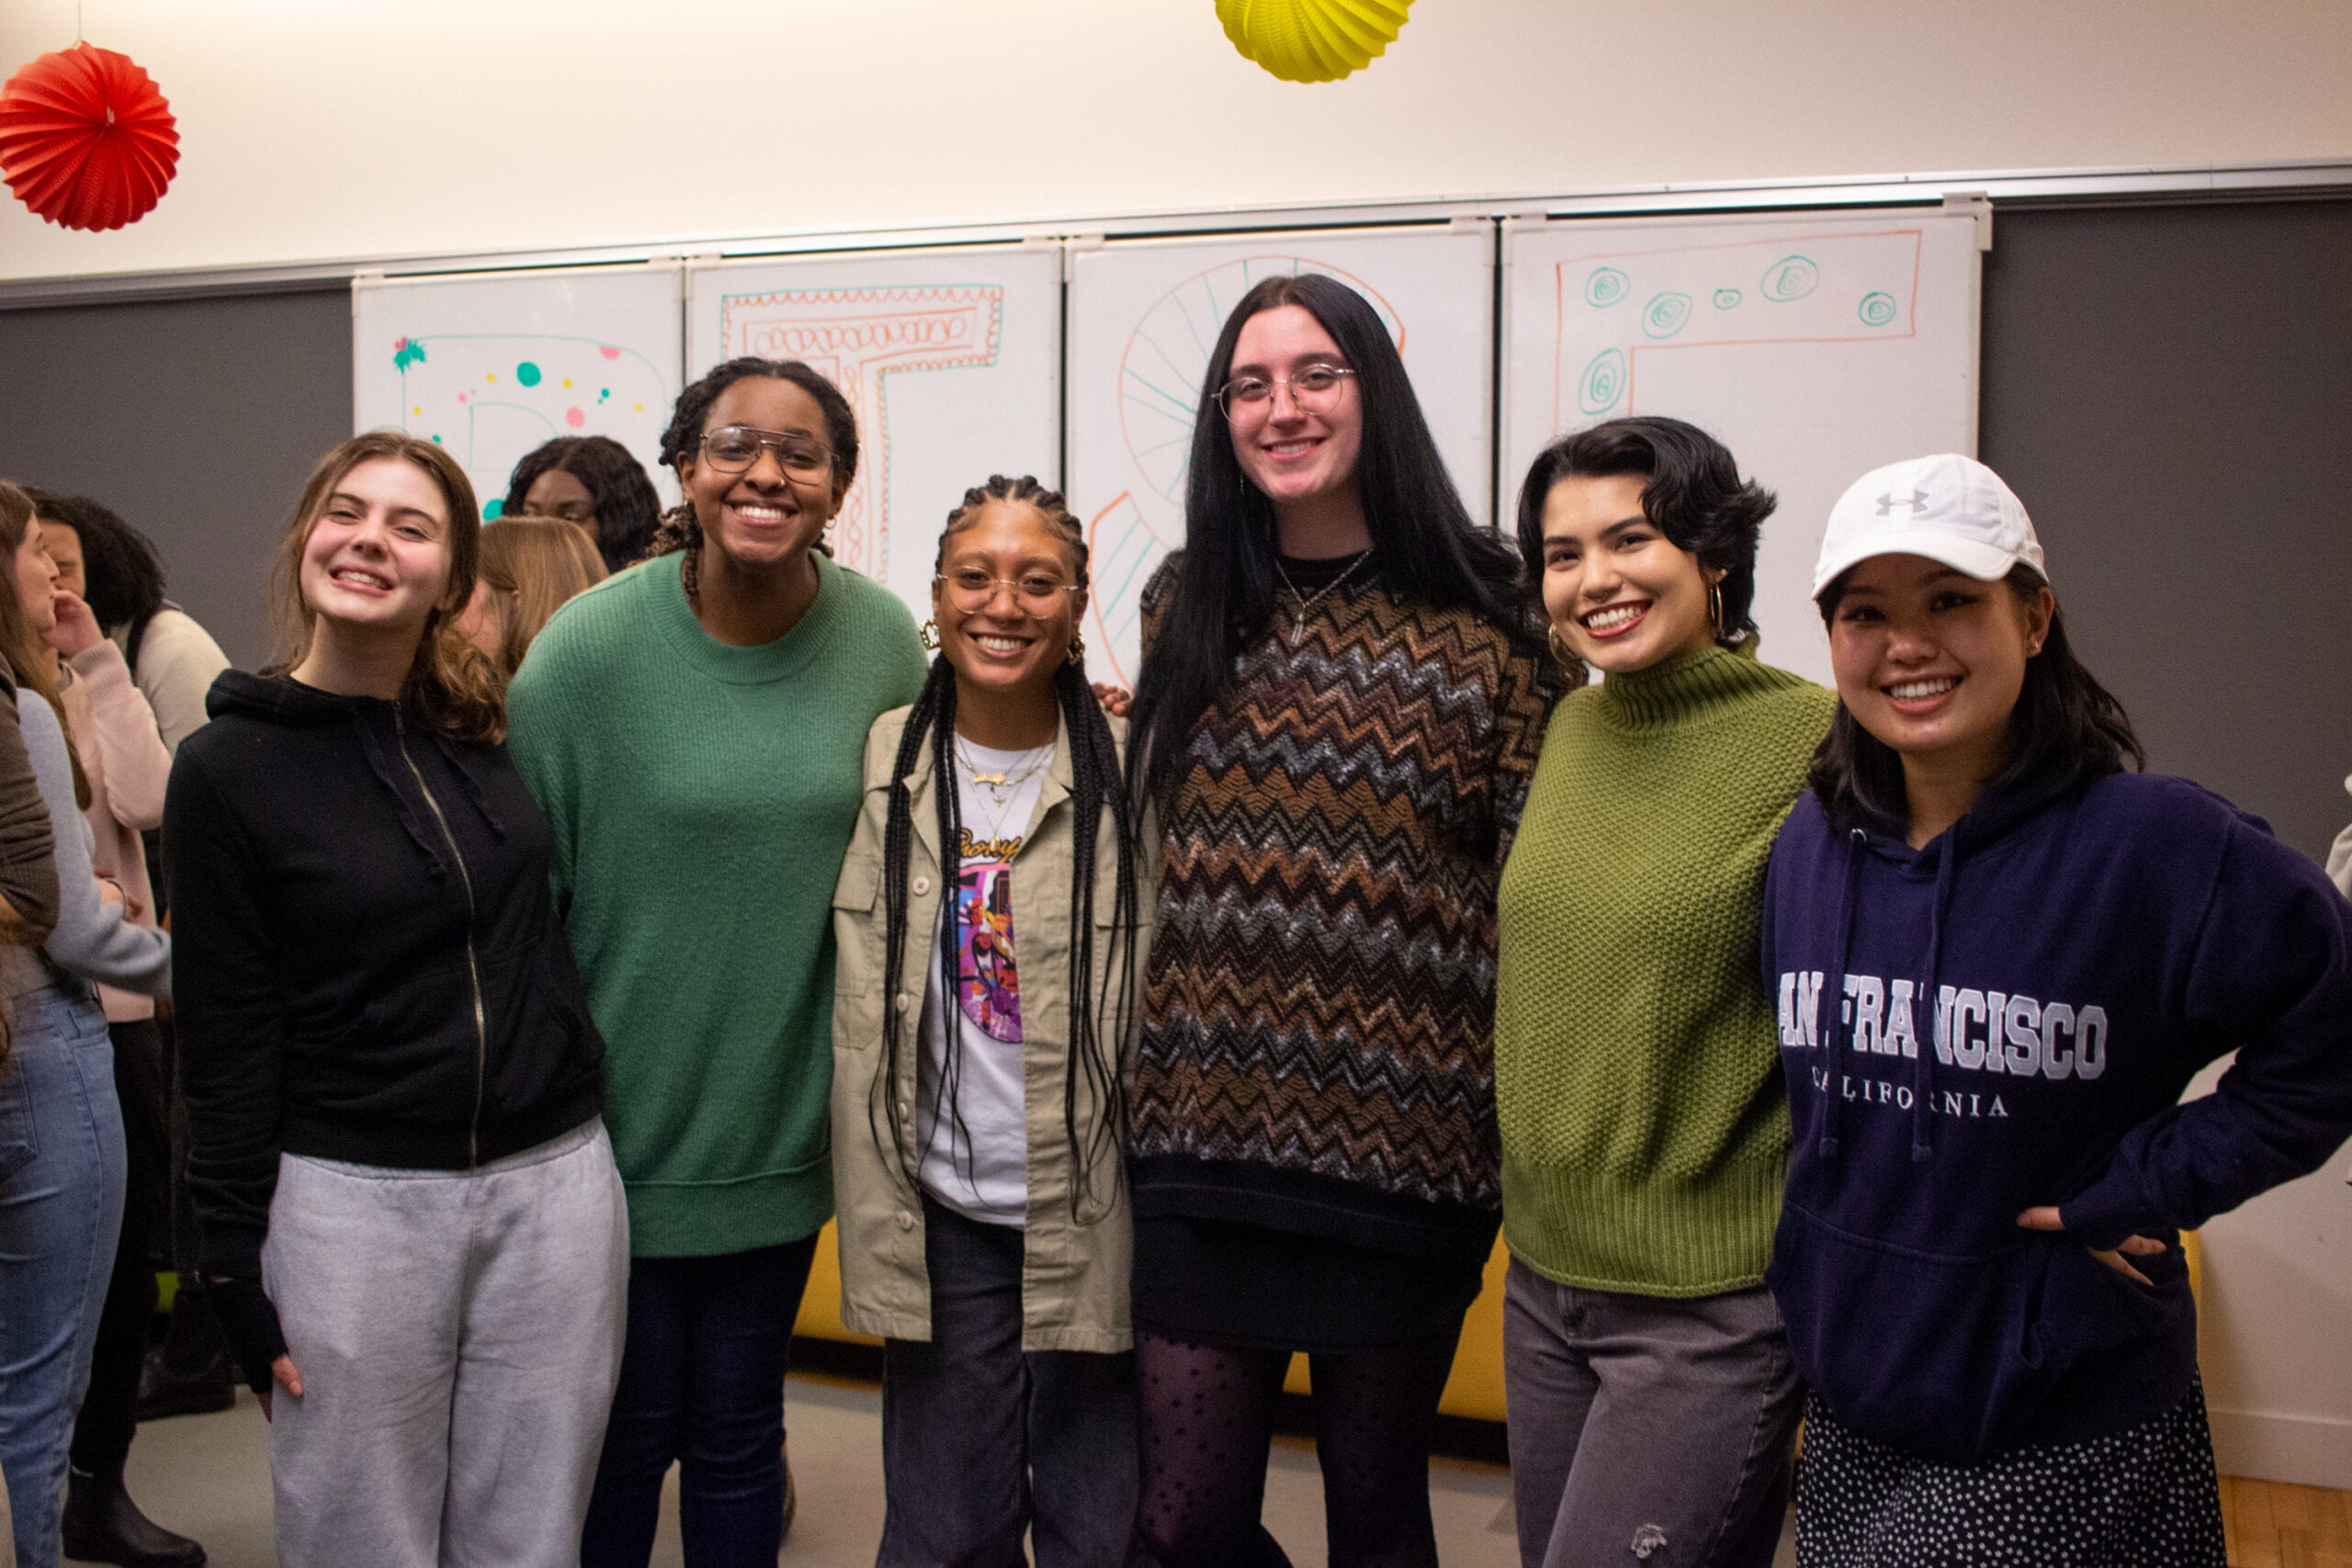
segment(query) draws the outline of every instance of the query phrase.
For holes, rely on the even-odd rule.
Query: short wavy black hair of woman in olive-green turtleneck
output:
[[[1543,581],[1543,503],[1571,475],[1609,480],[1642,475],[1642,515],[1698,564],[1722,571],[1715,585],[1722,623],[1715,642],[1736,649],[1755,630],[1757,541],[1778,498],[1740,480],[1731,449],[1698,425],[1663,414],[1611,418],[1536,454],[1519,487],[1519,559]]]

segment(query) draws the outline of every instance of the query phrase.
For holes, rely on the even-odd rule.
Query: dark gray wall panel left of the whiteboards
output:
[[[0,475],[108,503],[228,656],[310,465],[350,435],[350,292],[0,313]]]

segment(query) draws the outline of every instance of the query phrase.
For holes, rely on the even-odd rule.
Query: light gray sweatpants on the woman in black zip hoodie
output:
[[[628,1211],[604,1124],[475,1171],[287,1154],[261,1281],[285,1568],[562,1568],[621,1373]]]

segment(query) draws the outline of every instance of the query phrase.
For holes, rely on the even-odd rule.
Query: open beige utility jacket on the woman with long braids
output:
[[[882,830],[889,820],[889,776],[908,710],[875,719],[866,736],[866,806],[833,893],[833,936],[840,950],[833,980],[833,1192],[842,1237],[842,1321],[858,1333],[894,1340],[931,1338],[931,1281],[924,1269],[922,1201],[898,1161],[882,1152],[889,1117],[877,1095],[882,1077],[882,1009],[903,1016],[898,1081],[891,1093],[915,1126],[915,1072],[922,1063],[924,969],[938,961],[938,804],[931,795],[931,748],[908,776],[913,835],[908,842],[906,961],[884,976]],[[1112,719],[1112,733],[1124,726]],[[1127,1316],[1127,1267],[1134,1232],[1127,1213],[1124,1150],[1091,1171],[1087,1222],[1070,1213],[1070,1133],[1063,1126],[1063,1084],[1070,1067],[1070,736],[1056,738],[1054,762],[1037,792],[1037,816],[1014,856],[1014,936],[1021,952],[1021,1025],[1028,1119],[1028,1229],[1021,1248],[1021,1349],[1117,1352],[1134,1345]],[[1152,837],[1143,839],[1148,846]],[[1136,877],[1136,966],[1127,976],[1129,1018],[1141,1013],[1141,976],[1152,917],[1150,851]],[[1110,813],[1094,851],[1094,994],[1101,1027],[1117,1009],[1101,1006],[1112,976],[1112,907],[1117,900],[1117,837]],[[1134,1030],[1117,1041],[1122,1079]],[[1105,1112],[1080,1081],[1080,1131]],[[1103,1213],[1108,1208],[1108,1213]]]

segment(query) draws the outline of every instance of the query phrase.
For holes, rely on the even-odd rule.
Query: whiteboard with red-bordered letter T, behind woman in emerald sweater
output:
[[[807,360],[858,411],[833,557],[931,614],[948,512],[988,475],[1061,484],[1061,247],[696,268],[687,362]]]

